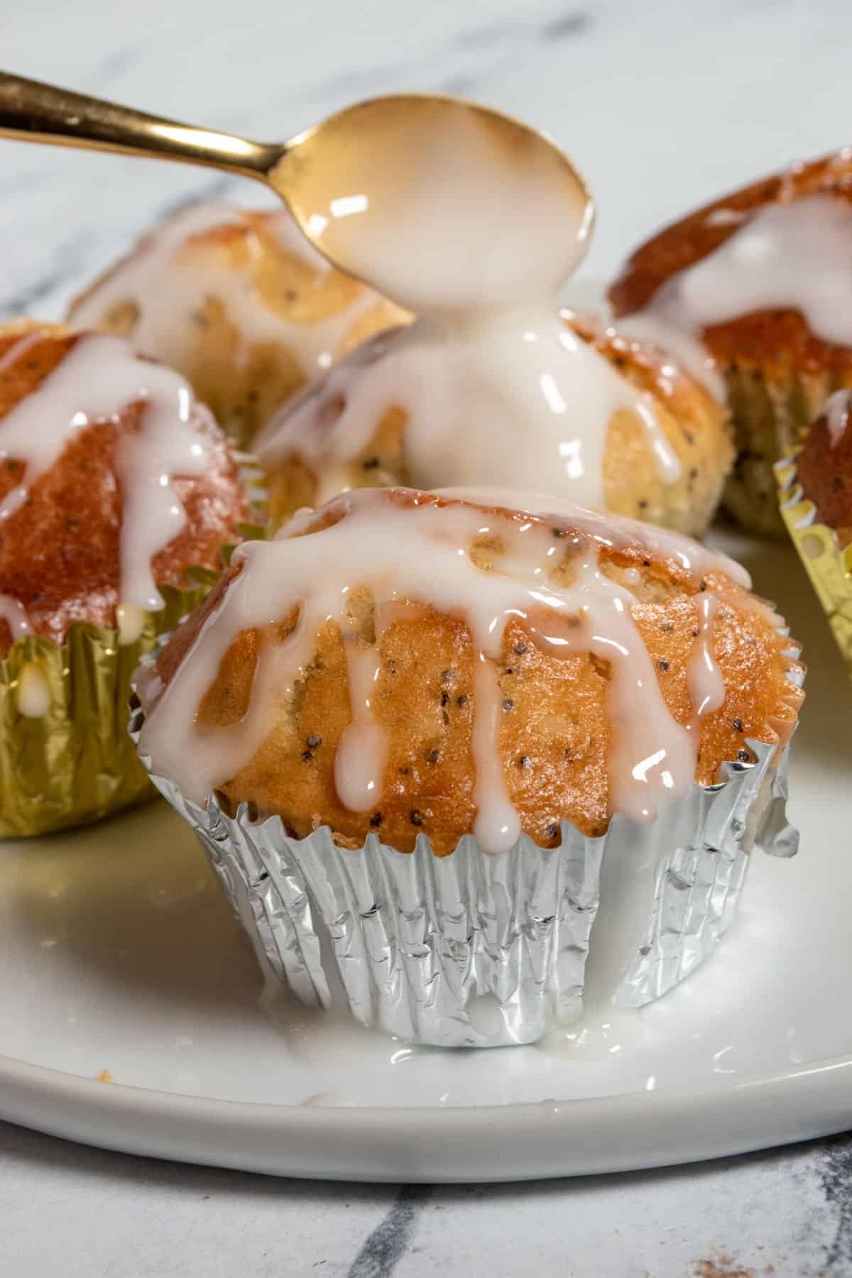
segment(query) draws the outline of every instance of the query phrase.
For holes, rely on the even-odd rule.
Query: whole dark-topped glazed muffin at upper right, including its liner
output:
[[[778,533],[772,468],[852,386],[852,151],[766,178],[666,227],[612,285],[626,332],[659,340],[731,408],[724,506]]]

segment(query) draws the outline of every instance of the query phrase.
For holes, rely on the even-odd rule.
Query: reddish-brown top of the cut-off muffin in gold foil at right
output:
[[[821,524],[852,543],[852,392],[835,391],[811,424],[796,459],[802,493],[816,506]]]

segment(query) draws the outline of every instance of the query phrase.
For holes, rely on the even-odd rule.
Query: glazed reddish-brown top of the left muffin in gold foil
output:
[[[211,413],[118,337],[0,330],[0,653],[73,621],[132,642],[249,507]],[[118,611],[116,611],[118,610]]]

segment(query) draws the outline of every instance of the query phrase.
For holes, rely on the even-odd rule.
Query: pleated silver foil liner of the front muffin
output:
[[[143,720],[137,704],[137,741]],[[445,858],[423,835],[413,852],[377,835],[339,847],[327,827],[291,838],[278,817],[151,780],[195,829],[268,983],[322,1008],[342,987],[356,1020],[410,1043],[503,1047],[576,1020],[588,982],[622,1007],[659,998],[729,927],[755,838],[795,854],[787,749],[770,772],[774,746],[749,745],[756,763],[724,764],[654,824],[614,817],[589,838],[563,822],[558,847],[521,836],[496,856],[473,836]]]

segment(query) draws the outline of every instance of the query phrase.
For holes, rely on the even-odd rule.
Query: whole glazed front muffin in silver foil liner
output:
[[[324,935],[365,1024],[531,1042],[576,1013],[589,944],[640,1006],[710,952],[754,840],[792,851],[784,634],[677,534],[361,489],[236,550],[132,731],[271,980],[327,1005]]]

